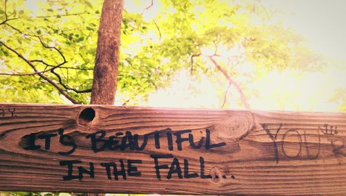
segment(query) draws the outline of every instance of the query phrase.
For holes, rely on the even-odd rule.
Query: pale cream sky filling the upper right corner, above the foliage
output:
[[[306,37],[318,53],[346,60],[346,1],[265,0],[263,5],[282,10],[275,17]]]

